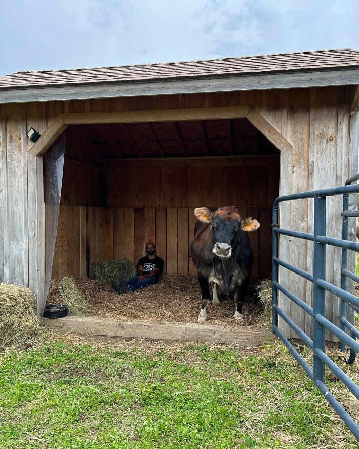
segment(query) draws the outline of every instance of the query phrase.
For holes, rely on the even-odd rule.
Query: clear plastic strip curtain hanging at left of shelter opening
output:
[[[45,294],[41,313],[49,294],[54,259],[61,185],[63,180],[66,132],[45,153]]]

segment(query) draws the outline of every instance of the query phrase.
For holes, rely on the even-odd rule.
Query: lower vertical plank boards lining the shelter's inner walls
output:
[[[250,233],[254,263],[252,278],[267,278],[271,272],[271,208],[241,208],[262,225]],[[134,263],[145,255],[145,244],[156,244],[164,259],[164,273],[196,274],[189,246],[196,218],[193,207],[86,207],[61,206],[52,273],[88,276],[100,260],[126,257]]]

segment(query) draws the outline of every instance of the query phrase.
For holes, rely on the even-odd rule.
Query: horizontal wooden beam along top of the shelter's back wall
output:
[[[101,159],[106,168],[121,167],[235,167],[235,166],[278,166],[279,154],[250,154],[244,156],[195,156],[187,158],[131,158]]]

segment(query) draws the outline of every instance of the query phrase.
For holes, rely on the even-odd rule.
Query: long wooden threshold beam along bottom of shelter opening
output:
[[[217,326],[197,323],[146,323],[144,321],[117,321],[113,318],[73,317],[56,320],[42,318],[49,329],[64,333],[151,340],[200,341],[229,343],[244,347],[257,347],[275,337],[255,326]]]

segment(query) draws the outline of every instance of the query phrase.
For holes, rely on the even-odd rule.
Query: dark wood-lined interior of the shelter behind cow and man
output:
[[[194,208],[225,205],[260,222],[250,233],[252,280],[270,277],[280,151],[247,119],[71,125],[65,132],[55,279],[86,278],[102,260],[136,264],[148,241],[164,260],[163,274],[195,275]]]

